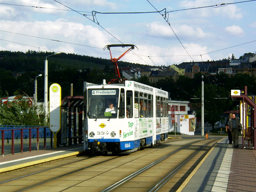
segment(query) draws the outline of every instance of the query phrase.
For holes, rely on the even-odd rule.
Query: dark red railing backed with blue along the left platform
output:
[[[23,153],[23,140],[28,139],[28,149],[31,151],[31,139],[36,135],[36,149],[39,149],[39,137],[44,138],[44,149],[46,149],[46,137],[50,137],[49,127],[45,126],[21,126],[0,125],[0,137],[2,138],[2,156],[4,156],[4,140],[11,139],[11,153],[14,154],[14,140],[20,139],[20,152]],[[32,136],[33,135],[33,136]]]

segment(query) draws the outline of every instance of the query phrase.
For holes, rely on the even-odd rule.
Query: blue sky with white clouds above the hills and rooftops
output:
[[[110,59],[106,45],[133,44],[121,60],[151,66],[239,58],[256,52],[255,7],[239,0],[0,0],[0,50]],[[111,47],[112,57],[128,48]]]

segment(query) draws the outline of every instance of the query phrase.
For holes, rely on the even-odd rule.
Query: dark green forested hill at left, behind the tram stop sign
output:
[[[38,100],[44,98],[44,61],[54,52],[10,52],[0,51],[0,98],[5,96],[27,94],[34,95],[34,82],[37,77]],[[60,53],[52,55],[48,65],[48,87],[58,83],[62,97],[70,95],[70,84],[73,84],[74,95],[83,95],[83,82],[102,83],[115,79],[114,65],[108,59],[94,58],[76,54]],[[118,61],[122,67],[142,66],[140,64]],[[120,70],[121,72],[121,70]],[[121,73],[122,74],[122,73]]]

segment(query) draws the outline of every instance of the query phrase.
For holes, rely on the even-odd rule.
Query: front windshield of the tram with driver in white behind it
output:
[[[88,89],[88,117],[116,118],[119,89]]]

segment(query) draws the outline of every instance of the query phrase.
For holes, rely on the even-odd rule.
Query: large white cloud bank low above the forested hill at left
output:
[[[106,44],[109,44],[108,34],[100,31],[98,28],[92,27],[91,25],[83,25],[81,23],[68,22],[64,19],[60,19],[56,21],[35,21],[35,22],[1,20],[0,24],[1,24],[1,30],[4,30],[4,31],[41,37],[41,38],[36,38],[36,37],[28,37],[28,36],[21,36],[21,35],[12,34],[12,33],[1,32],[1,38],[4,40],[13,41],[21,44],[28,44],[31,46],[42,47],[46,49],[50,49],[51,47],[52,50],[56,50],[56,51],[61,51],[61,50],[58,50],[58,48],[62,46],[63,43],[46,40],[42,38],[70,42],[74,44],[82,44],[82,45],[92,46],[92,47],[100,47],[100,48],[103,48]],[[1,42],[1,47],[4,47],[4,43],[5,42],[3,42],[2,44]],[[70,45],[72,44],[69,44],[69,46]],[[65,45],[63,46],[65,47]],[[82,46],[76,47],[76,52],[80,51],[81,52],[80,54],[83,54],[81,50],[84,48],[85,47],[82,47]],[[8,48],[8,50],[9,49],[10,48]],[[18,50],[24,52],[24,51],[27,51],[28,49],[32,49],[32,48],[23,46],[23,48]],[[75,50],[71,49],[68,52],[73,53],[75,52]]]

